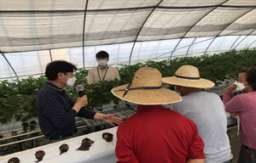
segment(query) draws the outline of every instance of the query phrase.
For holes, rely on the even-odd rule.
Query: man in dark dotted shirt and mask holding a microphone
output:
[[[67,96],[64,87],[73,87],[76,78],[74,72],[77,67],[65,60],[50,62],[45,69],[45,76],[48,82],[40,89],[36,97],[38,122],[44,136],[49,143],[72,138],[78,131],[75,117],[80,116],[88,119],[102,120],[112,126],[120,124],[121,119],[110,114],[104,115],[84,107],[88,104],[84,95],[73,102]]]

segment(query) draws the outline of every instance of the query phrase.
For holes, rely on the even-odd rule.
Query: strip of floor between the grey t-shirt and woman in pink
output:
[[[239,151],[241,148],[240,135],[236,136],[237,126],[232,126],[228,128],[228,131],[229,131],[229,135],[232,137],[230,139],[230,146],[233,154],[232,163],[237,163]]]

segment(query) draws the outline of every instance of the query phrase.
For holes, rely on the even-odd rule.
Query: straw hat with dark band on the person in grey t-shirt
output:
[[[175,76],[164,77],[163,82],[183,87],[206,88],[214,87],[215,83],[200,78],[199,70],[193,65],[183,65],[177,69]]]

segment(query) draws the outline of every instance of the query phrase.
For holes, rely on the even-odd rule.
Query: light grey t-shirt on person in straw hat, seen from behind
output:
[[[197,92],[183,96],[180,103],[172,104],[172,110],[194,121],[204,140],[207,163],[221,163],[231,159],[230,141],[224,104],[215,93]]]

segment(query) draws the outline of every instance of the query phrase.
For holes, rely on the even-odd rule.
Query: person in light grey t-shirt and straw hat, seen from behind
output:
[[[214,82],[200,78],[199,70],[192,65],[183,65],[175,76],[164,77],[163,82],[174,85],[182,96],[182,102],[171,104],[171,109],[194,121],[205,143],[207,163],[227,163],[232,159],[227,135],[227,118],[224,104],[216,93],[207,93],[201,88],[213,87]]]

